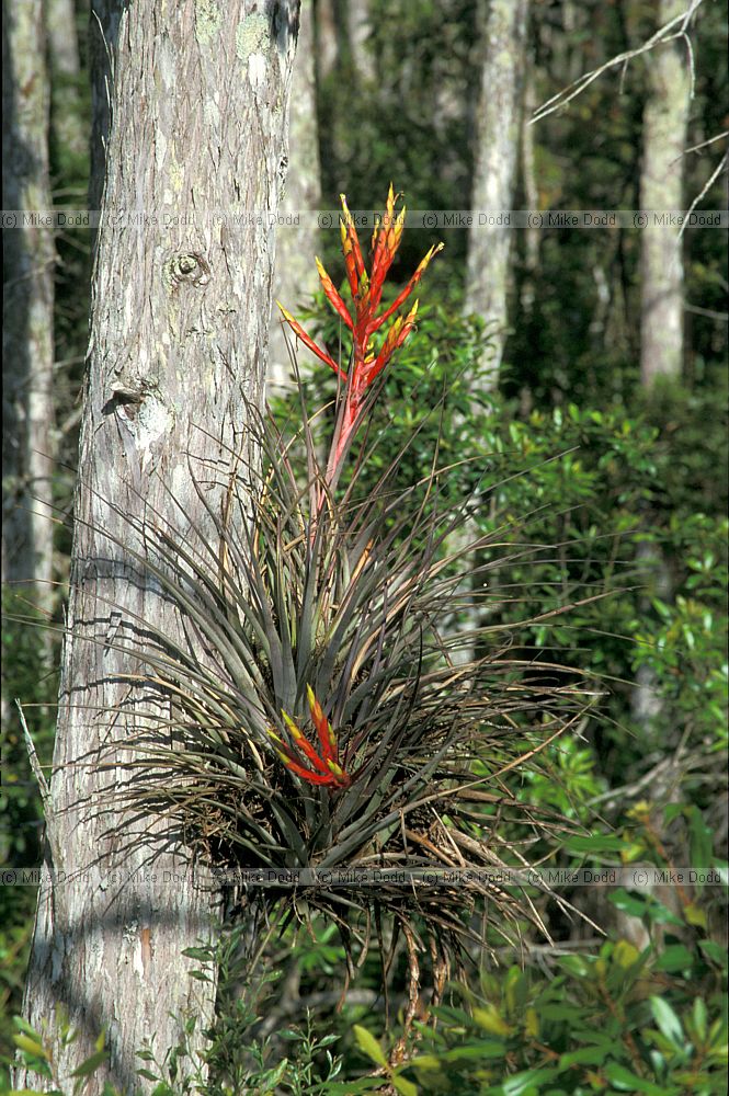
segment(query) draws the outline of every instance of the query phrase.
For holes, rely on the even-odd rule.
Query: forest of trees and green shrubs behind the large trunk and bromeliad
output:
[[[14,52],[15,79],[25,66],[43,83],[39,114],[25,124],[45,151],[24,201],[84,209],[93,174],[87,5],[29,8],[42,22],[23,43],[7,33],[3,4],[3,58]],[[669,23],[670,41],[643,49]],[[421,295],[418,331],[374,412],[385,442],[373,476],[420,429],[406,477],[422,475],[437,442],[443,463],[454,463],[454,498],[490,489],[475,523],[519,520],[531,544],[555,546],[500,572],[520,589],[496,610],[504,620],[613,591],[563,623],[519,635],[520,648],[540,652],[535,658],[578,665],[610,686],[538,767],[513,774],[514,795],[580,831],[539,846],[545,863],[566,871],[648,865],[667,879],[691,867],[709,880],[561,890],[606,937],[535,895],[553,944],[525,929],[520,948],[494,943],[486,968],[475,961],[466,987],[441,1006],[436,1035],[422,1030],[418,1053],[426,1049],[430,1060],[395,1073],[388,1066],[401,1092],[726,1085],[726,891],[710,880],[714,872],[726,886],[729,284],[726,220],[722,229],[708,216],[727,206],[726,32],[714,0],[304,5],[284,213],[311,215],[300,230],[278,232],[276,296],[338,347],[314,254],[343,278],[335,213],[327,227],[341,193],[353,210],[372,210],[390,181],[405,192],[412,219],[395,281],[445,242]],[[18,95],[21,83],[3,83],[3,95]],[[574,91],[569,102],[563,89]],[[19,209],[23,173],[8,122],[3,209]],[[626,220],[628,212],[692,206],[703,219],[669,218],[658,233]],[[487,209],[540,218],[505,232],[443,219],[444,210],[464,218],[475,210],[477,220]],[[550,225],[548,212],[559,210],[618,217],[606,227]],[[58,651],[53,636],[18,617],[27,617],[29,601],[38,620],[62,614],[70,539],[48,514],[72,510],[92,262],[90,229],[37,232],[30,281],[38,319],[21,332],[16,294],[19,282],[27,290],[29,274],[19,235],[5,232],[3,335],[0,861],[9,868],[41,860],[42,801],[13,699],[48,764]],[[18,368],[29,356],[21,338],[37,363],[30,380]],[[271,358],[269,395],[283,420],[293,386],[275,319]],[[331,375],[304,352],[299,363],[312,403],[323,401]],[[31,551],[22,515],[32,509],[45,511],[45,533],[36,523]],[[30,887],[0,888],[5,1063],[34,904]],[[209,1075],[223,1080],[205,1082],[209,1091],[230,1091],[231,1077],[232,1091],[364,1091],[368,1082],[356,1078],[377,1064],[378,1041],[387,1050],[399,1038],[405,956],[390,972],[396,1019],[386,1030],[374,958],[337,1011],[344,954],[331,925],[315,921],[308,934],[272,944],[255,977],[236,967],[235,933],[226,948],[206,1059]],[[585,1034],[595,1030],[603,1042]],[[180,1081],[183,1058],[181,1050],[172,1063],[149,1062],[150,1074],[169,1091],[190,1091]]]

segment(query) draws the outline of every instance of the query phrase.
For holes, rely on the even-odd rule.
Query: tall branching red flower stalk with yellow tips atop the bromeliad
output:
[[[394,320],[379,351],[375,349],[374,336],[406,302],[425,273],[433,255],[437,254],[444,247],[443,243],[438,243],[430,249],[392,304],[378,313],[385,279],[397,255],[405,227],[406,206],[403,205],[398,212],[395,208],[399,197],[400,195],[395,193],[390,183],[385,214],[376,219],[372,233],[371,264],[369,273],[367,273],[354,220],[346,205],[345,196],[341,195],[340,233],[346,279],[352,296],[352,309],[348,309],[321,261],[316,260],[327,299],[352,332],[352,353],[346,372],[307,334],[301,324],[278,302],[284,320],[294,334],[308,346],[312,354],[330,366],[342,383],[337,426],[327,461],[326,483],[330,490],[334,488],[339,479],[344,457],[362,421],[367,390],[415,327],[418,300],[414,300],[407,316],[398,316]]]

